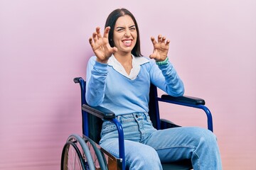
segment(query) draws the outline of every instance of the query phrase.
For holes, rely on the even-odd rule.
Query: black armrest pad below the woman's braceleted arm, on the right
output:
[[[206,102],[202,98],[191,97],[191,96],[180,96],[180,97],[173,97],[169,96],[168,94],[163,94],[161,99],[167,101],[174,101],[177,103],[186,103],[191,105],[205,105]]]

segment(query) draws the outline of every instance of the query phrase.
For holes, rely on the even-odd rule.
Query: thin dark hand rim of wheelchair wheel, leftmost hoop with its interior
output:
[[[82,154],[74,142],[68,141],[63,147],[63,154],[61,156],[61,169],[85,169],[85,162],[82,159]]]

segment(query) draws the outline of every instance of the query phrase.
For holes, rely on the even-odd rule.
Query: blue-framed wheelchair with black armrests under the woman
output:
[[[114,170],[125,169],[125,154],[124,154],[124,133],[122,125],[116,119],[113,111],[100,106],[91,107],[85,101],[85,86],[86,82],[82,77],[76,77],[73,81],[80,84],[81,90],[81,107],[82,107],[82,137],[77,134],[72,134],[68,137],[63,147],[61,155],[61,169],[90,169],[90,170]],[[181,106],[202,109],[207,115],[208,130],[213,132],[213,120],[210,110],[205,106],[205,101],[202,98],[191,96],[173,97],[162,95],[158,97],[157,88],[153,84],[150,87],[149,94],[149,116],[151,122],[156,129],[176,128],[176,125],[169,120],[161,119],[159,115],[159,102],[173,103]],[[103,120],[109,120],[117,126],[119,134],[119,157],[114,157],[104,148],[98,145],[100,141],[100,132],[102,129]],[[188,159],[180,162],[171,162],[162,164],[163,169],[185,170],[193,169],[191,161]]]

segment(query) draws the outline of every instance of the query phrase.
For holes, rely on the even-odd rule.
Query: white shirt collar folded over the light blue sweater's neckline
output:
[[[149,62],[149,60],[147,60],[145,57],[134,57],[134,55],[132,55],[132,69],[129,75],[127,74],[127,72],[125,72],[124,67],[122,67],[122,64],[117,61],[114,55],[110,57],[107,64],[112,66],[113,69],[115,69],[117,72],[119,72],[123,76],[134,80],[139,74],[140,66],[142,64],[145,64],[146,62]]]

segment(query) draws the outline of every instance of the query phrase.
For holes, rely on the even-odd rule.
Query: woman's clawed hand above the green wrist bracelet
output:
[[[156,60],[156,62],[162,62],[166,60],[169,51],[170,40],[166,40],[165,37],[159,35],[157,42],[154,37],[151,37],[151,42],[153,43],[154,50],[153,53],[149,55],[149,57]]]

